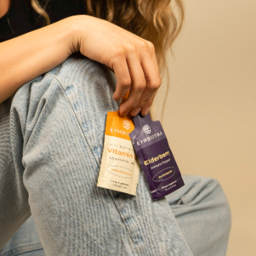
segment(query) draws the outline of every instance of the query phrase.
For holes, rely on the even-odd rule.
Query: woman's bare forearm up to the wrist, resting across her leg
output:
[[[0,103],[24,83],[65,61],[72,51],[75,24],[63,19],[0,44]]]

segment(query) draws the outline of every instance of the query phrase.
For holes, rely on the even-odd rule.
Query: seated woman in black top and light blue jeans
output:
[[[170,1],[1,3],[0,255],[224,255],[216,180],[184,176],[168,202],[142,171],[135,197],[96,187],[107,111],[129,90],[120,114],[146,115],[160,87],[181,28]]]

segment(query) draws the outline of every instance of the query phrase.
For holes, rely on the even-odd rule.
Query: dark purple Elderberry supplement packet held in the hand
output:
[[[152,121],[149,114],[146,117],[137,114],[133,122],[135,129],[129,136],[149,182],[153,199],[163,198],[184,186],[160,121]]]

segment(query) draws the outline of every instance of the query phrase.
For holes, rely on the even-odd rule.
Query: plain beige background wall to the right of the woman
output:
[[[226,192],[227,256],[256,255],[256,1],[184,5],[163,127],[181,172],[216,177]]]

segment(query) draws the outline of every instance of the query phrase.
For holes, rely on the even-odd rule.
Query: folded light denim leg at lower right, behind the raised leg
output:
[[[231,212],[216,179],[184,175],[184,187],[167,200],[195,256],[226,255]]]

